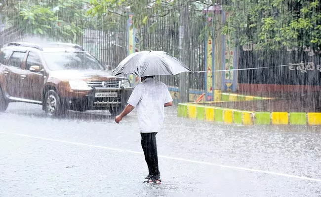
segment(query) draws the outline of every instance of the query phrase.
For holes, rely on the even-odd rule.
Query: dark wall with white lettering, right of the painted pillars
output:
[[[267,67],[239,71],[240,91],[291,92],[321,88],[319,49],[254,52],[252,46],[240,47],[239,63],[239,68]]]

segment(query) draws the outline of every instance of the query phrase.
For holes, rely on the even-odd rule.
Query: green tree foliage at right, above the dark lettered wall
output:
[[[319,0],[232,0],[224,33],[257,49],[321,47]]]

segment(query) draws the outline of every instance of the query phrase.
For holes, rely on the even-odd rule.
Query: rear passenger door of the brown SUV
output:
[[[22,80],[25,76],[22,64],[25,56],[25,51],[13,51],[8,64],[5,67],[6,91],[9,97],[22,98]]]

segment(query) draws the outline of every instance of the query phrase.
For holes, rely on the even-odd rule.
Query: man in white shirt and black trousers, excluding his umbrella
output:
[[[135,87],[128,99],[128,105],[116,116],[115,121],[119,123],[124,116],[137,108],[141,144],[149,170],[146,182],[160,183],[156,134],[164,121],[164,107],[171,106],[173,99],[167,86],[156,81],[154,76],[141,77],[141,82]]]

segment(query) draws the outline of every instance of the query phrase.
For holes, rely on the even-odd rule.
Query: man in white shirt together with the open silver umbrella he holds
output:
[[[115,76],[130,73],[141,78],[127,103],[128,105],[115,117],[115,122],[130,113],[135,107],[138,112],[141,144],[148,165],[147,183],[161,183],[158,166],[156,134],[164,121],[164,107],[171,106],[171,98],[167,86],[155,80],[155,75],[175,75],[191,71],[177,59],[161,51],[143,51],[131,54],[114,70]]]

